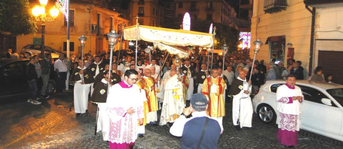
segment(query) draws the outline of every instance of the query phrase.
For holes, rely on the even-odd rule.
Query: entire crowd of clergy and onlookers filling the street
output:
[[[213,57],[213,64],[212,59],[207,62],[206,56],[191,55],[180,63],[176,63],[175,59],[175,56],[166,59],[163,55],[155,55],[150,60],[142,55],[136,62],[130,55],[121,55],[119,58],[114,55],[110,68],[108,54],[92,56],[89,52],[81,56],[73,53],[70,60],[60,55],[54,64],[49,54],[34,56],[30,58],[26,69],[28,102],[40,104],[36,100],[36,80],[40,77],[43,87],[39,98],[48,97],[43,89],[52,71],[57,76],[57,94],[62,94],[64,89],[69,89],[70,82],[75,82],[76,117],[87,114],[89,96],[89,101],[98,107],[97,132],[101,131],[102,139],[108,141],[113,149],[132,148],[137,137],[144,137],[145,125],[167,125],[172,135],[182,136],[184,148],[215,148],[223,132],[225,103],[232,102],[233,125],[238,130],[251,128],[253,106],[250,95],[270,79],[285,79],[283,90],[296,90],[294,96],[289,96],[278,89],[277,101],[283,106],[278,109],[279,112],[285,117],[287,114],[299,114],[289,113],[287,108],[291,106],[284,104],[294,103],[297,105],[292,108],[299,109],[298,105],[302,102],[300,88],[295,86],[295,80],[304,79],[300,61],[290,59],[284,66],[282,62],[275,64],[274,59],[267,64],[263,60],[253,62],[249,58],[235,57],[228,57],[223,63],[221,56]],[[322,72],[323,68],[317,67],[309,79],[325,81]],[[329,81],[332,82],[332,76]],[[161,110],[159,118],[158,110]],[[285,140],[282,137],[289,137],[285,129],[299,131],[298,125],[291,130],[284,128],[288,126],[286,124],[279,126],[279,141]],[[202,133],[198,131],[201,128]],[[293,140],[296,139],[292,144],[280,143],[296,146],[297,138],[294,135],[291,133]],[[204,139],[199,142],[200,136]]]

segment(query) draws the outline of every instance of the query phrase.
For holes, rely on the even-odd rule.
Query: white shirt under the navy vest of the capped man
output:
[[[181,137],[182,136],[182,132],[183,132],[183,127],[184,124],[186,124],[189,120],[196,118],[196,117],[203,117],[206,116],[210,119],[214,119],[216,121],[218,121],[217,118],[212,118],[210,116],[207,115],[206,111],[201,111],[201,112],[193,112],[192,113],[192,117],[191,118],[186,118],[185,116],[180,116],[179,118],[177,118],[174,122],[174,124],[171,126],[171,129],[169,130],[169,132],[171,133],[171,135],[173,136],[177,136],[177,137]],[[218,122],[220,128],[221,128],[221,133],[223,133],[223,126]]]

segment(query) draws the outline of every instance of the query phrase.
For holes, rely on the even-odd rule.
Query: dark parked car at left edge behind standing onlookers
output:
[[[28,84],[25,77],[26,65],[29,59],[0,60],[0,98],[19,93],[26,93]],[[56,86],[56,74],[50,73],[47,93],[52,93]],[[42,87],[42,80],[37,81],[38,90]]]

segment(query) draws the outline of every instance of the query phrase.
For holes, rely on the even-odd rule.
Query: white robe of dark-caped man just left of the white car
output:
[[[252,127],[252,118],[253,118],[253,104],[250,98],[250,93],[252,87],[247,82],[247,79],[241,79],[239,76],[237,79],[243,81],[243,88],[241,92],[237,95],[234,95],[232,101],[232,120],[234,125],[237,124],[237,120],[239,120],[240,127]],[[231,86],[237,87],[237,86]],[[248,90],[249,94],[245,94],[244,91]]]

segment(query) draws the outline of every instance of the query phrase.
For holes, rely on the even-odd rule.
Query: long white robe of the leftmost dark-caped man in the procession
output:
[[[78,67],[81,69],[80,67]],[[84,66],[85,70],[86,67]],[[82,78],[82,74],[80,74]],[[75,113],[86,113],[88,108],[88,94],[90,89],[90,84],[81,84],[82,79],[78,80],[74,84],[74,110]]]

